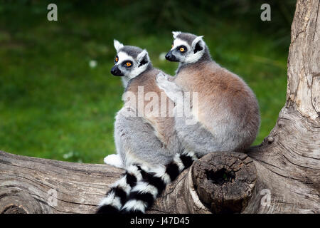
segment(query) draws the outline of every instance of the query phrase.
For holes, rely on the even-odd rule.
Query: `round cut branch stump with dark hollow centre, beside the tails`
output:
[[[193,165],[193,184],[199,199],[213,213],[240,213],[249,201],[257,170],[247,155],[213,152]]]

